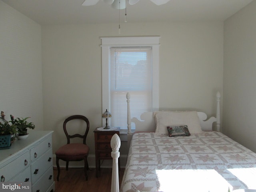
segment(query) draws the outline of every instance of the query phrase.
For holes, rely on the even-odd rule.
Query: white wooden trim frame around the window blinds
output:
[[[147,37],[102,37],[102,112],[110,109],[110,48],[152,47],[152,110],[159,110],[159,36]],[[131,96],[132,99],[132,96]],[[111,125],[111,118],[108,120]],[[102,119],[102,125],[106,120]],[[125,132],[125,131],[124,131]],[[127,132],[125,132],[127,133]]]

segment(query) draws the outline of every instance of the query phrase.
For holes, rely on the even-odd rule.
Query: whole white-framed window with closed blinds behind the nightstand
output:
[[[111,126],[127,130],[127,92],[132,117],[158,110],[158,62],[159,37],[102,38],[102,110]]]

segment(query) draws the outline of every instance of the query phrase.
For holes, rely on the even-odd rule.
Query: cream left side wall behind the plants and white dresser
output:
[[[41,26],[0,1],[0,110],[43,129]]]

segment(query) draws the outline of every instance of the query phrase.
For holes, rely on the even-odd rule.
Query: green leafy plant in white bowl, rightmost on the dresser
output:
[[[26,117],[26,118],[15,118],[14,116],[10,115],[11,120],[10,122],[12,123],[12,125],[16,126],[16,129],[18,131],[18,138],[20,136],[25,136],[24,138],[26,138],[28,136],[27,130],[28,128],[30,129],[34,129],[35,125],[32,122],[28,122],[27,119],[30,117]],[[21,138],[20,138],[21,139]]]

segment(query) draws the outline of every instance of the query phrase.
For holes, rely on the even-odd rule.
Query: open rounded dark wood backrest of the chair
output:
[[[80,134],[69,135],[68,131],[66,129],[66,124],[67,124],[67,122],[69,122],[71,120],[77,120],[77,119],[84,120],[86,122],[85,133],[84,133],[84,135],[80,135]],[[67,140],[68,140],[67,144],[70,144],[70,138],[76,138],[76,137],[82,138],[83,139],[83,144],[86,144],[86,137],[87,137],[87,134],[89,132],[89,128],[90,128],[90,123],[89,123],[88,118],[86,118],[85,116],[72,115],[72,116],[66,118],[64,123],[63,123],[63,130],[64,130],[64,133],[65,133],[65,135],[67,137]]]

